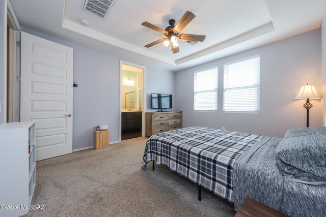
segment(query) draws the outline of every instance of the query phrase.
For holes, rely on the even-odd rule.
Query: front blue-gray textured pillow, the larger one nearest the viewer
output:
[[[283,139],[275,158],[281,173],[309,182],[326,181],[326,135]]]

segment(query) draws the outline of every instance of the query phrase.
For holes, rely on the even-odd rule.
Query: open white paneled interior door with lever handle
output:
[[[36,122],[36,160],[72,152],[73,49],[21,32],[20,121]]]

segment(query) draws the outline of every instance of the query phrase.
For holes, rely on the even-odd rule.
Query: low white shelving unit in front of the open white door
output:
[[[35,123],[1,123],[0,150],[0,204],[18,205],[0,216],[28,213],[21,205],[31,204],[36,184]]]

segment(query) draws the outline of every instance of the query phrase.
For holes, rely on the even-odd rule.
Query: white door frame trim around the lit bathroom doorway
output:
[[[146,95],[145,95],[145,89],[146,89],[146,67],[139,66],[136,64],[128,63],[126,61],[120,60],[120,72],[119,72],[119,142],[121,142],[121,84],[122,84],[122,65],[128,65],[137,67],[143,70],[143,105],[142,105],[142,137],[145,137],[145,112],[146,112]]]

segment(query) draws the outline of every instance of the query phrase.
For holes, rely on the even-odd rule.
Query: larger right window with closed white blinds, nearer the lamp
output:
[[[224,65],[224,111],[259,112],[260,56]]]

